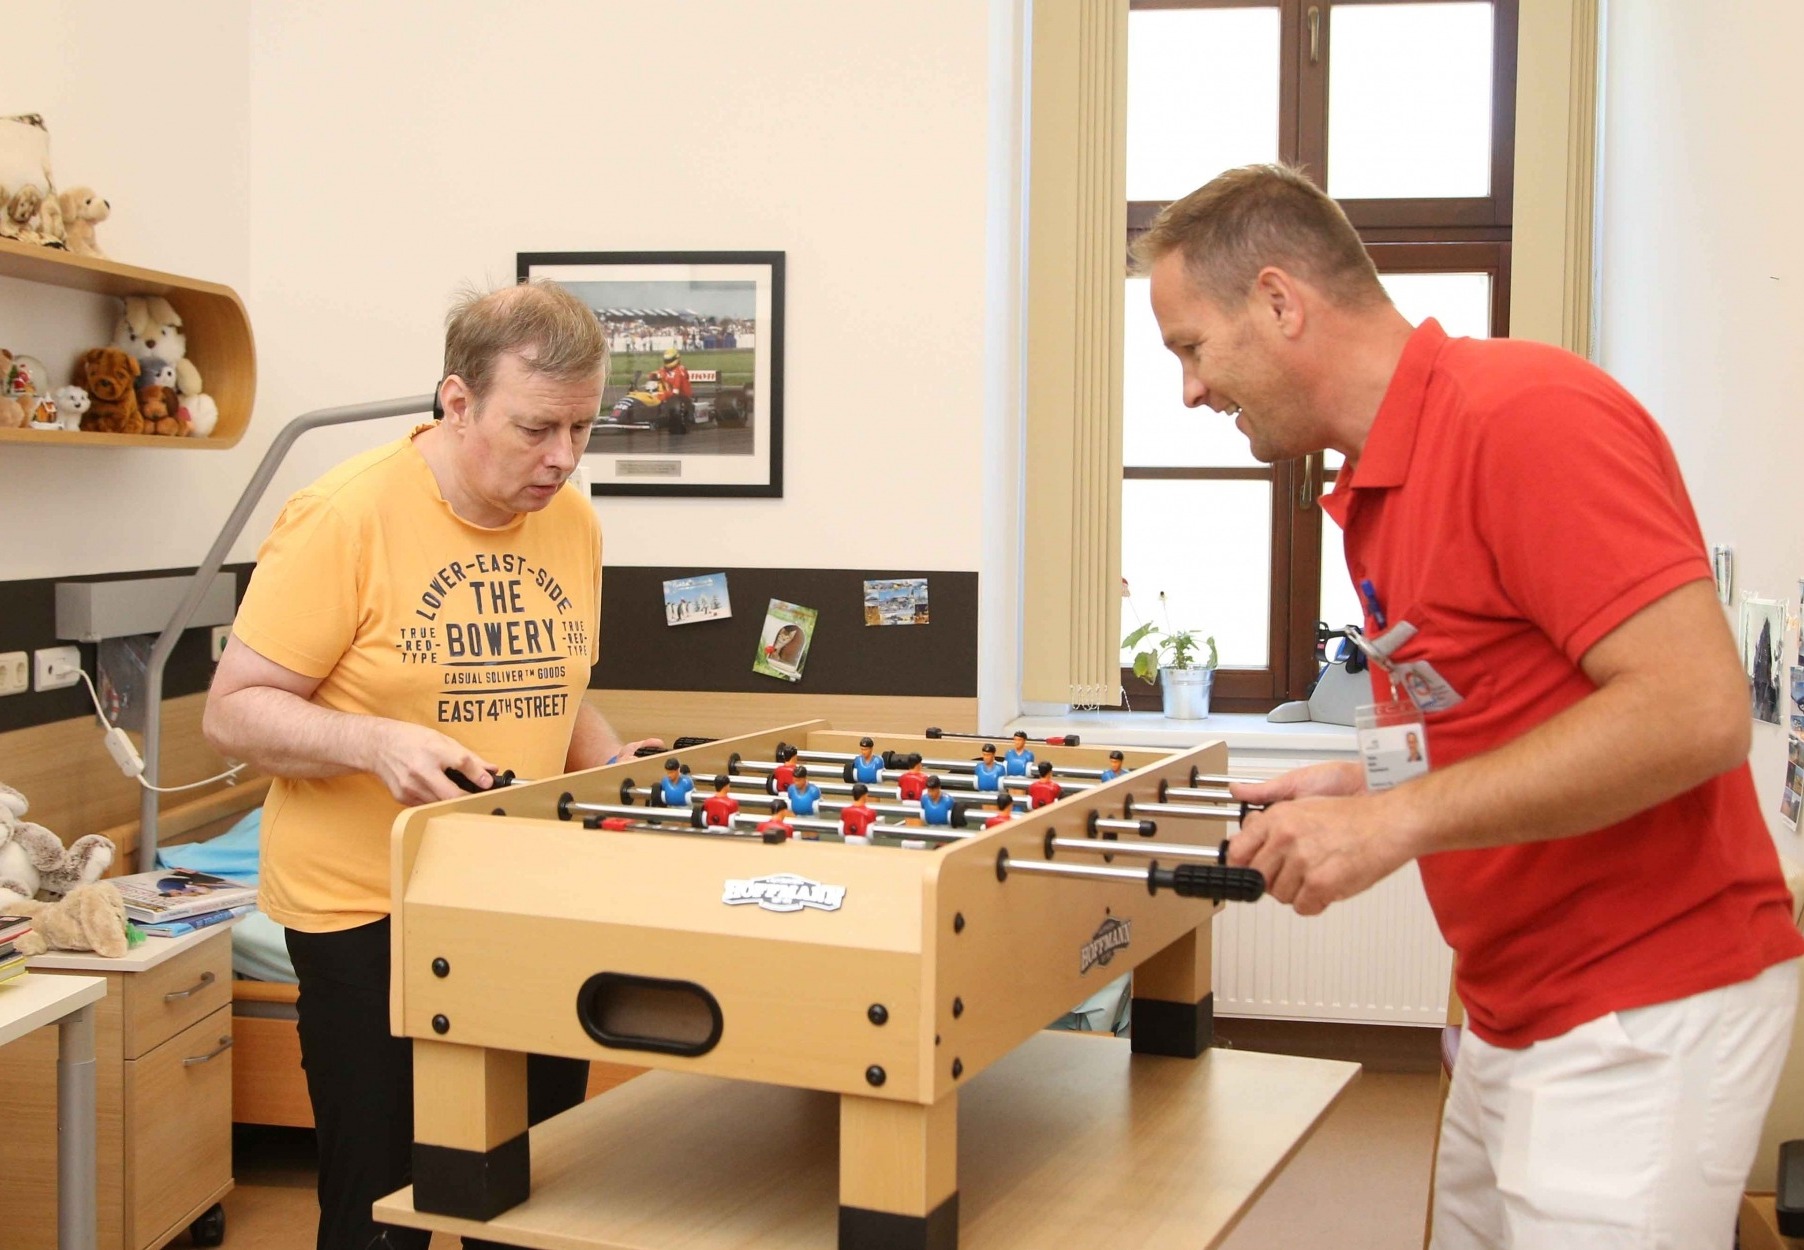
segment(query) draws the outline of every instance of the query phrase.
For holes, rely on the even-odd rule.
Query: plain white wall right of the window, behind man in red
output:
[[[1665,426],[1735,588],[1799,601],[1804,5],[1633,0],[1606,29],[1600,363]],[[1795,655],[1795,651],[1793,651]],[[1755,725],[1775,835],[1782,727]]]

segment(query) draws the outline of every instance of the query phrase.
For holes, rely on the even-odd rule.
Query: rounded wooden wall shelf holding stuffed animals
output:
[[[123,265],[0,238],[0,278],[88,290],[97,296],[162,296],[182,314],[188,355],[200,368],[207,395],[218,404],[220,418],[207,438],[168,438],[161,435],[101,435],[76,429],[0,429],[0,442],[27,442],[56,447],[162,447],[166,451],[224,451],[244,438],[256,399],[256,346],[251,317],[238,292],[213,281],[164,274],[155,269]],[[85,346],[103,346],[90,343]],[[14,348],[20,350],[20,348]],[[29,355],[38,355],[29,352]],[[58,386],[67,381],[52,377]],[[54,390],[54,388],[52,388]]]

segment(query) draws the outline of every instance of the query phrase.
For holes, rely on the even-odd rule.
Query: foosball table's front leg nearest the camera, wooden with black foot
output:
[[[839,1250],[956,1250],[958,1093],[839,1098]]]

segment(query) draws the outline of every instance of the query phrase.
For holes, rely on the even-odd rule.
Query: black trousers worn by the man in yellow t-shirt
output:
[[[431,1241],[370,1216],[377,1198],[413,1183],[413,1043],[388,1034],[388,929],[379,920],[339,933],[287,931],[319,1135],[319,1250],[426,1250]],[[586,1088],[586,1061],[530,1055],[527,1118],[539,1124],[568,1111]]]

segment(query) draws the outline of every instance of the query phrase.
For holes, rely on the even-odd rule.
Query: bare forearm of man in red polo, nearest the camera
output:
[[[1676,696],[1678,694],[1678,696]],[[1746,754],[1726,718],[1652,680],[1615,682],[1533,732],[1375,795],[1407,853],[1589,833],[1735,767]]]

